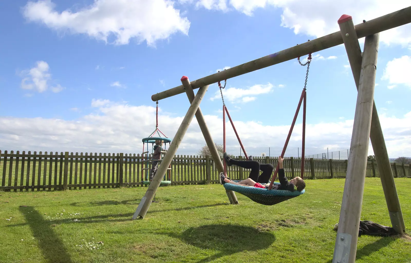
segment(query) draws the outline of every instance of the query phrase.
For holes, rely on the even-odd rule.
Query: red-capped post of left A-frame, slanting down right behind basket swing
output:
[[[185,93],[187,94],[188,100],[190,101],[190,103],[192,103],[192,101],[194,100],[194,91],[191,87],[190,80],[188,79],[188,77],[183,76],[181,78],[181,83],[185,89]],[[208,130],[207,124],[205,123],[205,119],[204,119],[203,113],[201,112],[200,107],[196,111],[196,119],[197,119],[197,122],[199,123],[201,132],[203,133],[208,149],[210,150],[211,157],[214,160],[214,163],[217,167],[217,171],[218,173],[221,173],[224,171],[223,162],[221,161],[217,148],[215,147],[215,143],[212,140],[210,131]],[[226,190],[226,194],[231,204],[238,204],[236,194],[233,191]]]

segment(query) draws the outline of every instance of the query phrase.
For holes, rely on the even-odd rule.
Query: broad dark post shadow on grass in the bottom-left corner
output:
[[[21,206],[19,210],[24,214],[27,224],[30,226],[34,238],[38,240],[43,256],[48,262],[73,262],[66,252],[62,240],[53,231],[50,221],[44,220],[42,215],[32,206]]]

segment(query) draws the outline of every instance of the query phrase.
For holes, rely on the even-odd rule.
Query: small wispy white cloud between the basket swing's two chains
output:
[[[224,99],[230,102],[249,102],[254,101],[256,97],[252,95],[266,94],[272,92],[274,86],[271,83],[267,85],[256,84],[249,87],[248,89],[239,89],[239,88],[225,88],[223,89]],[[210,98],[214,101],[215,99],[221,98],[221,93],[219,90],[215,91],[215,96]]]

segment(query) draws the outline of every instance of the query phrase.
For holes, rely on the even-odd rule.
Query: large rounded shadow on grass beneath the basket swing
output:
[[[217,250],[217,254],[208,256],[197,263],[209,262],[223,256],[242,251],[266,249],[275,241],[270,232],[261,232],[250,226],[233,224],[212,224],[191,227],[181,235],[167,233],[173,238],[180,238],[189,245],[205,250]]]

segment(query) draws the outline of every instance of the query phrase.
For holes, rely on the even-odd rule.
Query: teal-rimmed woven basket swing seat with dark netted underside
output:
[[[239,181],[234,181],[239,182]],[[274,182],[275,185],[280,183]],[[224,188],[226,190],[231,190],[238,192],[242,195],[245,195],[249,199],[253,200],[256,203],[272,206],[282,201],[291,199],[293,197],[298,197],[301,194],[305,193],[305,189],[300,191],[291,192],[289,190],[268,190],[263,188],[248,187],[242,185],[233,185],[231,183],[224,183]]]

